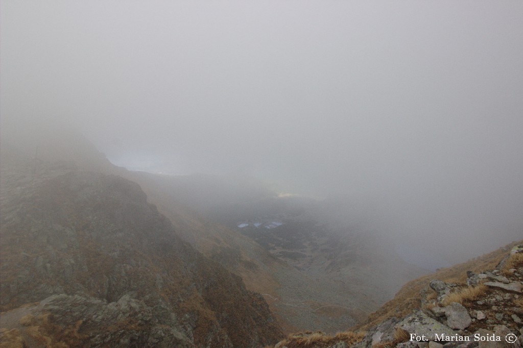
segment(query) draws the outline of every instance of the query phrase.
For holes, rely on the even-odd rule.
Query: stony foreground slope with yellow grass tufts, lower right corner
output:
[[[398,315],[402,313],[398,308],[396,316],[392,316],[390,309],[382,308],[381,320],[371,317],[366,325],[353,328],[366,331],[335,337],[321,332],[294,334],[275,347],[521,347],[523,243],[509,250],[493,270],[477,274],[468,271],[463,283],[431,280],[418,295],[417,306],[413,301],[401,303],[395,299],[396,306],[411,308],[409,314]],[[479,260],[488,257],[492,254]]]

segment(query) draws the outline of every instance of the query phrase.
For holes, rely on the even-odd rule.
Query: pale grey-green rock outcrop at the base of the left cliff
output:
[[[53,295],[43,300],[35,310],[35,315],[42,314],[50,314],[52,323],[58,327],[55,330],[63,332],[74,323],[81,322],[76,328],[76,335],[86,346],[195,346],[176,316],[157,316],[152,307],[129,295],[109,304],[93,297]]]

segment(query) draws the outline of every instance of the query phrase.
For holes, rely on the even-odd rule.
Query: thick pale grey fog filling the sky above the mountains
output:
[[[0,9],[3,136],[65,124],[129,169],[343,195],[449,260],[523,238],[519,0]]]

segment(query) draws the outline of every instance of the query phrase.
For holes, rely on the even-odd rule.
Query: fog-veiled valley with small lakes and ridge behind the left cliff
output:
[[[57,132],[52,140],[33,137],[31,146],[17,148],[28,157],[38,148],[38,157],[74,160],[85,169],[97,158],[93,168],[139,183],[175,233],[262,294],[287,332],[344,330],[425,272],[368,231],[347,227],[347,216],[333,218],[331,203],[278,196],[253,178],[127,171],[76,138]],[[238,227],[244,221],[250,224]]]

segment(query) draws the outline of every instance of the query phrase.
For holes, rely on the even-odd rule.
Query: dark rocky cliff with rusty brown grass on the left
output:
[[[0,177],[4,340],[258,347],[281,335],[265,300],[177,237],[138,184],[35,161]]]

